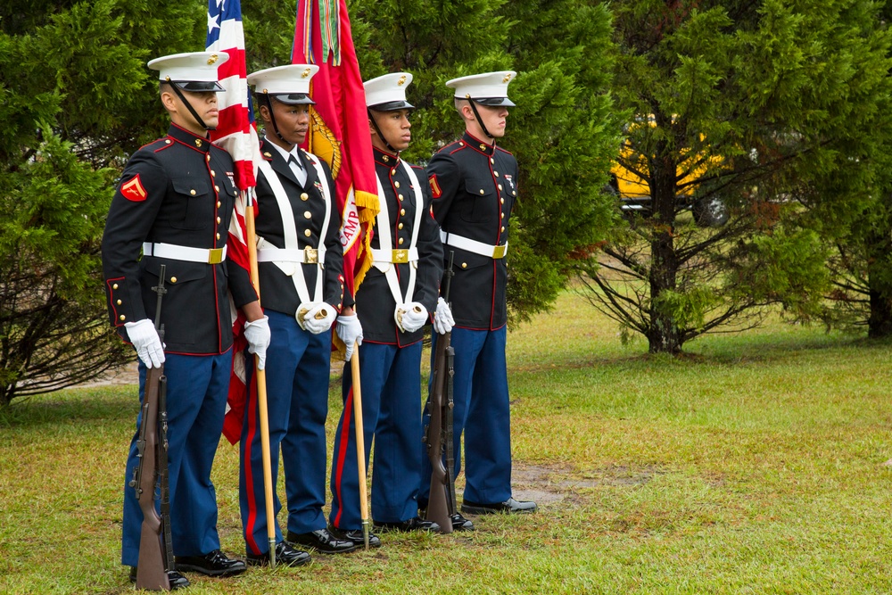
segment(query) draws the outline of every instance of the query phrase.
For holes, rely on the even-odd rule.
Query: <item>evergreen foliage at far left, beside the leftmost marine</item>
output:
[[[132,359],[107,322],[99,242],[117,172],[166,128],[145,62],[200,49],[203,11],[0,5],[0,407]]]

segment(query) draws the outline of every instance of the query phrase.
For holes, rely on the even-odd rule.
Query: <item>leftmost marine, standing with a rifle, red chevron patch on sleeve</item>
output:
[[[103,234],[103,277],[111,324],[139,355],[139,398],[146,369],[165,363],[168,379],[169,487],[173,553],[179,570],[227,575],[244,562],[219,550],[211,465],[226,408],[232,319],[228,293],[252,327],[263,354],[268,328],[248,273],[227,259],[227,230],[235,205],[234,166],[212,145],[217,67],[226,53],[176,54],[149,62],[160,71],[168,135],[140,148],[121,174]],[[141,257],[142,252],[142,257]],[[153,319],[161,265],[166,265],[161,324]],[[265,330],[264,330],[265,329]],[[264,335],[258,337],[260,335]],[[250,338],[250,337],[249,337]],[[136,427],[139,427],[137,417]],[[136,434],[125,475],[121,562],[138,563],[143,514],[126,483],[136,467]],[[169,569],[173,570],[173,569]],[[135,576],[131,572],[131,578]],[[188,582],[171,573],[177,588]]]

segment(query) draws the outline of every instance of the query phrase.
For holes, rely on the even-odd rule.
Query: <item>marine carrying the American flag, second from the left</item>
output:
[[[309,128],[307,95],[318,66],[290,64],[248,76],[255,87],[266,136],[257,176],[260,298],[269,317],[267,395],[274,508],[279,450],[285,468],[287,539],[276,524],[277,560],[289,566],[321,553],[355,549],[327,531],[326,417],[331,326],[344,299],[341,217],[335,183],[325,161],[300,145]],[[355,318],[355,317],[353,317]],[[248,563],[268,558],[259,411],[245,408],[241,436],[239,501]],[[276,523],[275,519],[272,522]]]

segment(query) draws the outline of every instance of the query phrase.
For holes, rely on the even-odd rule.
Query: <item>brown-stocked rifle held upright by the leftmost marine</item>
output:
[[[166,266],[161,265],[158,285],[153,291],[158,293],[158,305],[155,308],[155,330],[161,343],[164,343],[164,326],[161,325],[161,298],[167,290],[164,288]],[[143,511],[143,526],[139,536],[139,563],[136,565],[136,589],[148,591],[170,591],[167,566],[172,570],[170,559],[170,523],[169,517],[162,522],[155,510],[155,483],[161,478],[161,501],[169,516],[169,494],[167,492],[167,376],[164,376],[164,364],[159,368],[149,368],[145,375],[145,391],[143,393],[143,412],[139,424],[139,437],[136,440],[136,458],[139,462],[133,471],[133,479],[129,485],[136,491],[136,500]],[[163,403],[164,409],[161,409]],[[161,409],[161,415],[159,415]],[[159,442],[159,418],[161,418],[161,442]],[[164,500],[167,500],[165,503]],[[162,536],[162,529],[163,536]],[[166,537],[166,540],[165,540]],[[165,566],[167,565],[167,566]]]

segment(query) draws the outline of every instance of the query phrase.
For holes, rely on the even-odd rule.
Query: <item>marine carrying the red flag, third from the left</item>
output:
[[[371,242],[374,264],[356,292],[363,329],[359,376],[367,466],[373,438],[375,445],[372,517],[376,527],[438,531],[439,525],[418,516],[421,459],[417,445],[421,443],[422,328],[430,318],[428,313],[438,308],[442,244],[440,227],[430,214],[425,170],[400,157],[411,139],[412,105],[406,101],[411,81],[411,74],[398,72],[365,83],[381,211]],[[442,302],[440,308],[443,316],[442,308],[448,310],[448,306]],[[340,532],[359,537],[352,387],[351,368],[345,367],[329,521]]]

